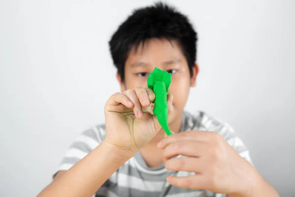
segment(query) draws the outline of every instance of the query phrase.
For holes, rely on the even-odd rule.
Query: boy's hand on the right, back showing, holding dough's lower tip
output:
[[[162,139],[158,147],[164,149],[168,170],[195,172],[167,177],[171,185],[246,197],[255,184],[256,169],[216,132],[179,132]],[[177,155],[186,157],[174,158]]]

